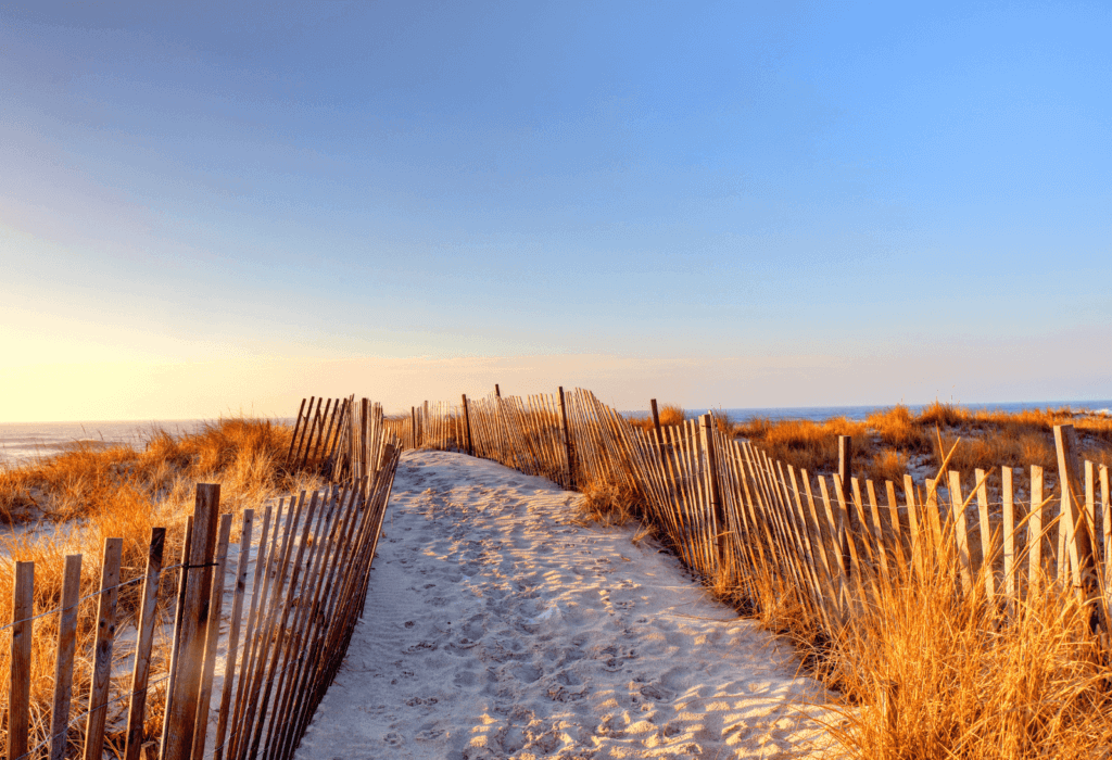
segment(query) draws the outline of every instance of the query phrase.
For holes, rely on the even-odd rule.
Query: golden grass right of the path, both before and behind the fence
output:
[[[1031,463],[1053,472],[1053,426],[1061,423],[1076,428],[1082,456],[1108,461],[1112,420],[1069,409],[1006,414],[935,403],[914,413],[901,406],[862,422],[749,420],[734,433],[811,472],[834,471],[837,436],[850,434],[866,477],[900,482],[911,458],[939,468],[942,451],[951,454],[947,469],[970,474]],[[806,670],[835,694],[828,728],[848,757],[1112,758],[1112,648],[1090,629],[1092,607],[1053,572],[1010,608],[999,597],[990,602],[992,562],[972,593],[961,592],[947,530],[939,547],[920,548],[921,569],[892,562],[883,578],[865,567],[867,598],[833,631],[803,589],[758,561],[744,578],[731,568],[709,587],[796,644]]]

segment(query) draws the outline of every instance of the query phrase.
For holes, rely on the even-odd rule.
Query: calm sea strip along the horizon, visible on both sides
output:
[[[959,404],[969,409],[994,409],[1007,412],[1024,409],[1058,409],[1069,407],[1074,411],[1090,411],[1112,414],[1112,400],[1103,401],[1036,401],[1025,403],[995,404]],[[887,407],[770,407],[754,409],[716,409],[725,412],[735,422],[766,417],[772,420],[825,420],[831,417],[847,417],[851,420],[863,420],[871,412]],[[910,407],[912,411],[923,409],[922,406]],[[687,413],[696,416],[705,409],[691,409]],[[648,414],[646,410],[634,410],[627,414]],[[292,424],[294,420],[285,421]],[[153,431],[166,430],[178,436],[198,430],[211,420],[151,420],[149,422],[0,422],[0,468],[12,467],[31,461],[38,457],[48,457],[62,451],[73,442],[86,442],[93,446],[101,443],[130,443],[142,448]]]

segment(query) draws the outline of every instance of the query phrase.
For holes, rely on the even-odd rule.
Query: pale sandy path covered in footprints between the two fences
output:
[[[791,652],[540,478],[403,457],[366,613],[300,760],[807,757]],[[813,708],[814,709],[814,708]]]

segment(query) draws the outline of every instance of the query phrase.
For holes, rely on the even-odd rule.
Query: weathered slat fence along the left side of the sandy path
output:
[[[261,520],[250,509],[221,514],[220,487],[198,484],[173,564],[163,562],[165,528],[153,529],[141,571],[120,567],[122,541],[109,538],[98,591],[79,597],[82,557],[70,556],[61,603],[36,610],[34,563],[17,563],[13,622],[4,627],[11,631],[7,758],[292,756],[363,613],[400,454],[381,424],[381,407],[366,399],[309,419],[295,441],[298,456],[317,466],[327,452],[337,463],[331,474],[345,478],[268,506]],[[339,438],[319,424],[325,419]],[[163,582],[170,578],[173,590]],[[160,583],[171,592],[160,596]],[[118,598],[132,586],[141,601],[133,627],[125,628]],[[167,610],[172,621],[159,613]],[[33,662],[31,646],[32,631],[51,616],[58,620],[57,644],[46,656],[52,667]],[[78,631],[90,629],[92,641],[79,647]],[[76,661],[91,666],[80,688]],[[48,672],[50,699],[32,700],[32,680]]]

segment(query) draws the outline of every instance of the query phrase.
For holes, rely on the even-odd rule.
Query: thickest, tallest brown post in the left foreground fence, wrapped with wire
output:
[[[162,760],[186,760],[193,746],[197,697],[200,690],[205,639],[209,624],[211,562],[216,553],[220,486],[197,483],[195,504],[189,562],[182,568],[186,572],[186,584],[181,629],[177,632],[178,672],[173,679],[173,690],[167,698],[167,730]]]

